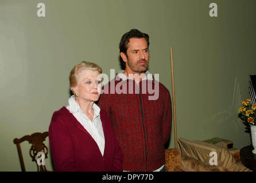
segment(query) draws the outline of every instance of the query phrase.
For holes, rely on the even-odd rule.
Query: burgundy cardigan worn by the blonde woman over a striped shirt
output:
[[[49,142],[55,171],[122,171],[123,155],[106,111],[100,110],[100,120],[105,137],[103,156],[67,108],[53,113]]]

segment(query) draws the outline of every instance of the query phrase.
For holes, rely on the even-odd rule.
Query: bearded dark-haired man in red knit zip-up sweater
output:
[[[118,86],[115,90],[122,88],[122,93],[103,93],[98,105],[110,116],[124,156],[123,170],[165,171],[164,145],[170,137],[172,104],[169,90],[148,71],[149,35],[131,29],[122,36],[119,49],[125,70],[103,90]],[[152,97],[150,86],[157,97]]]

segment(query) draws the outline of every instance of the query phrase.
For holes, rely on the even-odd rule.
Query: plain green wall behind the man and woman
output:
[[[37,17],[40,2],[46,17]],[[209,16],[211,2],[218,17]],[[150,35],[149,70],[170,92],[173,46],[178,137],[249,145],[237,112],[256,74],[255,7],[250,0],[0,0],[0,170],[20,171],[13,139],[48,131],[52,113],[67,105],[76,63],[96,62],[106,74],[121,69],[118,44],[133,28]],[[24,142],[34,171],[28,148]],[[51,161],[46,166],[52,170]]]

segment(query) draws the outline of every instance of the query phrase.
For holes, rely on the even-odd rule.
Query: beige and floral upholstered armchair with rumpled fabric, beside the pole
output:
[[[166,172],[250,172],[240,160],[239,149],[179,138],[180,149],[165,150]],[[215,152],[217,165],[210,165]]]

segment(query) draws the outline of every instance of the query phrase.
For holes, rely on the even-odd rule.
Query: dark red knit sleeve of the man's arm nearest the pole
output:
[[[164,116],[162,118],[162,132],[164,137],[164,144],[170,138],[170,129],[172,126],[172,101],[170,100],[170,93],[169,90],[166,89],[165,94],[165,109],[164,109]]]

